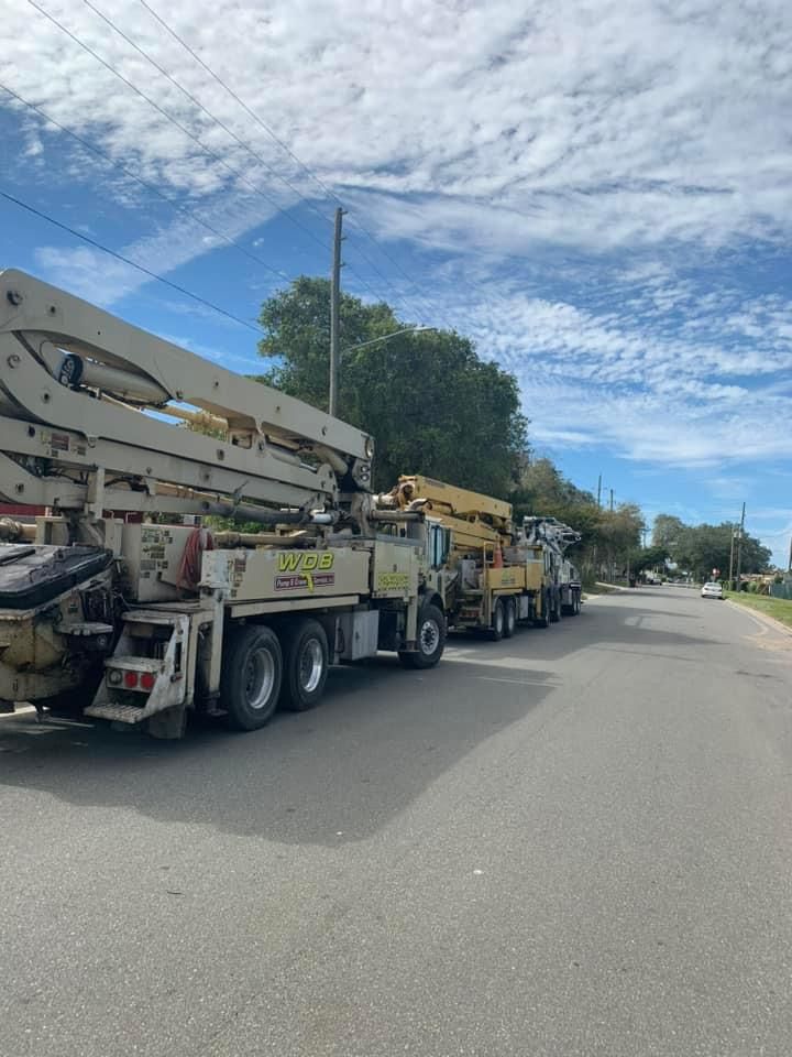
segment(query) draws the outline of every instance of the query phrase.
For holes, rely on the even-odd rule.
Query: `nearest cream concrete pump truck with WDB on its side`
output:
[[[20,271],[0,368],[0,503],[47,510],[0,520],[6,710],[252,730],[332,663],[440,660],[440,530],[378,508],[365,433]]]

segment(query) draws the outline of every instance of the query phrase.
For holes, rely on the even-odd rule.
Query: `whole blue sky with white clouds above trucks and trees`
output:
[[[344,288],[513,371],[538,455],[787,566],[792,4],[6,0],[0,86],[1,266],[245,371],[340,201]]]

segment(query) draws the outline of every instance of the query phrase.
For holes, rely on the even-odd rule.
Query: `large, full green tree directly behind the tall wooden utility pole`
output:
[[[270,361],[261,381],[327,407],[330,284],[301,276],[262,306]],[[516,379],[449,330],[365,342],[409,324],[386,304],[341,301],[338,413],[376,442],[374,484],[399,473],[427,473],[488,494],[506,495],[527,447]]]

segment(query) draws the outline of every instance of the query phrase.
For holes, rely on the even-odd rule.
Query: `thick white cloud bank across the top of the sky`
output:
[[[213,151],[257,164],[89,8],[45,7]],[[143,9],[99,7],[282,176],[311,187]],[[365,18],[351,0],[158,8],[322,179],[363,188],[385,232],[525,249],[721,246],[790,229],[792,19],[781,2],[394,0]],[[6,6],[0,33],[0,79],[56,119],[174,187],[237,185],[24,0]],[[272,173],[268,183],[288,194]],[[428,200],[397,209],[372,192]]]

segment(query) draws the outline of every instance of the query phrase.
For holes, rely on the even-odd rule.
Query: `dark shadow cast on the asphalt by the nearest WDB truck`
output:
[[[399,671],[393,671],[399,668]],[[475,665],[406,672],[394,658],[333,668],[320,708],[231,733],[198,722],[180,742],[132,728],[0,719],[0,791],[120,807],[283,843],[361,840],[482,741],[536,709],[556,684]],[[509,674],[508,672],[506,673]],[[477,676],[480,678],[477,678]]]

